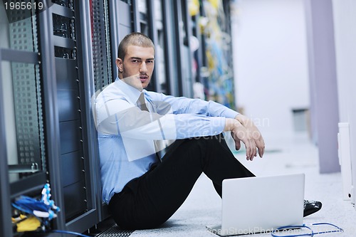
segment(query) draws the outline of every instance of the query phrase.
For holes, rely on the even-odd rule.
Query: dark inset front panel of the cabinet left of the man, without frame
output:
[[[73,3],[72,3],[73,4]],[[75,4],[73,4],[75,5]],[[55,53],[56,93],[60,131],[61,184],[66,222],[83,214],[86,207],[85,135],[78,60],[78,24],[74,6],[52,6],[53,44]]]

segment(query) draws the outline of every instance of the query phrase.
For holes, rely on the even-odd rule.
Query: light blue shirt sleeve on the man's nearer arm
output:
[[[225,117],[174,113],[170,104],[167,105],[161,106],[165,114],[160,114],[142,111],[122,99],[105,101],[95,108],[98,132],[101,135],[164,140],[217,135],[224,130]]]

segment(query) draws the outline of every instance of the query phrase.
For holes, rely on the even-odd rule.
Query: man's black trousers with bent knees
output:
[[[109,209],[117,226],[132,230],[158,227],[187,199],[201,172],[220,196],[224,179],[253,176],[231,153],[223,135],[177,140],[162,163],[112,196]]]

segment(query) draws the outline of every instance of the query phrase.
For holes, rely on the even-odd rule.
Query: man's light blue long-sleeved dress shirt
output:
[[[239,113],[213,101],[143,90],[150,112],[137,107],[140,90],[116,79],[95,98],[103,201],[145,174],[155,157],[154,140],[218,135],[225,118]]]

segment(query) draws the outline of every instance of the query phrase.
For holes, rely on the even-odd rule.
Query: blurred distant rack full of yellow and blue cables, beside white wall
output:
[[[192,35],[200,43],[193,56],[199,65],[193,82],[204,85],[206,100],[235,108],[230,4],[229,0],[199,1],[199,11],[191,17]],[[209,21],[200,24],[200,18]]]

